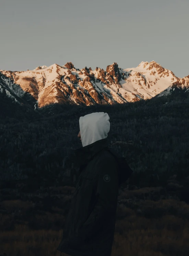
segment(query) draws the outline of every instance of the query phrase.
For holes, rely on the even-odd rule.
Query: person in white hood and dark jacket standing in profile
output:
[[[80,176],[57,248],[61,253],[111,255],[119,186],[133,171],[108,145],[109,119],[104,112],[79,119],[82,147],[74,150],[72,161],[80,167]]]

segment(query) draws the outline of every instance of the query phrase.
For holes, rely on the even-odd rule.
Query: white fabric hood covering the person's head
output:
[[[107,138],[110,130],[109,115],[95,112],[79,119],[81,142],[83,147]]]

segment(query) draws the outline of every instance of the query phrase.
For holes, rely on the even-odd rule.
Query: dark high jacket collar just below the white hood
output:
[[[107,138],[95,141],[94,143],[87,145],[85,147],[80,147],[79,149],[74,150],[74,159],[73,161],[81,166],[87,164],[91,158],[104,149],[108,147],[109,141]]]

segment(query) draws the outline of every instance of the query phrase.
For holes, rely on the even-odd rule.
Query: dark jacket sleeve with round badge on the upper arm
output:
[[[107,218],[115,217],[118,195],[117,163],[114,157],[107,157],[97,163],[97,201],[86,222],[82,225],[79,237],[91,238],[102,228]]]

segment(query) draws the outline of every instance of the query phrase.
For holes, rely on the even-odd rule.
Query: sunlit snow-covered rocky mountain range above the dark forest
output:
[[[185,87],[187,78],[176,77],[155,61],[128,69],[113,63],[106,71],[98,67],[80,70],[68,62],[27,71],[0,70],[0,93],[17,102],[27,97],[34,109],[50,103],[114,104],[150,99],[174,83]]]

